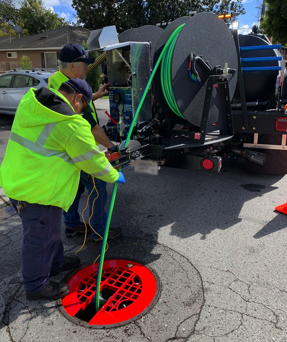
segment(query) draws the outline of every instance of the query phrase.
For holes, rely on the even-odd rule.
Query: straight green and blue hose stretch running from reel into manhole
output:
[[[129,142],[129,139],[131,138],[132,132],[133,132],[133,128],[135,126],[139,111],[141,109],[141,106],[143,104],[143,101],[145,100],[145,97],[149,91],[150,85],[151,85],[151,81],[154,77],[155,71],[158,69],[161,60],[164,56],[166,56],[167,51],[170,47],[170,45],[173,43],[175,44],[175,41],[179,35],[179,32],[181,31],[182,27],[184,26],[184,24],[182,24],[181,26],[179,26],[177,29],[174,30],[174,32],[172,33],[172,35],[168,38],[168,41],[166,42],[166,44],[164,45],[164,48],[159,56],[159,59],[156,61],[156,64],[152,70],[152,73],[150,75],[150,78],[148,80],[148,83],[146,85],[145,90],[143,91],[143,94],[141,96],[140,102],[138,104],[137,110],[135,112],[133,121],[131,123],[131,126],[129,127],[127,136],[126,136],[126,141],[125,141],[125,145],[124,147],[126,147],[126,145]],[[172,49],[172,52],[174,50],[174,46]],[[168,58],[172,58],[172,56],[168,57]],[[169,79],[167,79],[167,81],[169,81]],[[171,82],[171,79],[170,79]],[[173,97],[174,98],[174,97]],[[179,112],[180,113],[180,112]],[[119,169],[119,171],[121,171],[121,167]],[[114,200],[115,200],[115,195],[117,193],[117,189],[118,189],[118,183],[114,183],[114,187],[113,187],[113,192],[112,192],[112,197],[111,197],[111,201],[110,201],[110,206],[109,206],[109,212],[108,212],[108,217],[107,217],[107,222],[106,222],[106,227],[105,227],[105,233],[104,233],[104,238],[102,239],[102,245],[101,245],[101,252],[100,252],[100,259],[99,259],[99,265],[98,265],[98,273],[97,273],[97,282],[96,282],[96,291],[95,291],[95,309],[96,309],[96,313],[99,311],[99,294],[100,294],[100,279],[101,279],[101,274],[102,274],[102,264],[104,262],[104,257],[105,257],[105,247],[106,247],[106,243],[107,243],[107,238],[108,238],[108,232],[109,232],[109,227],[110,227],[110,222],[111,222],[111,216],[112,216],[112,212],[113,212],[113,206],[114,206]]]

